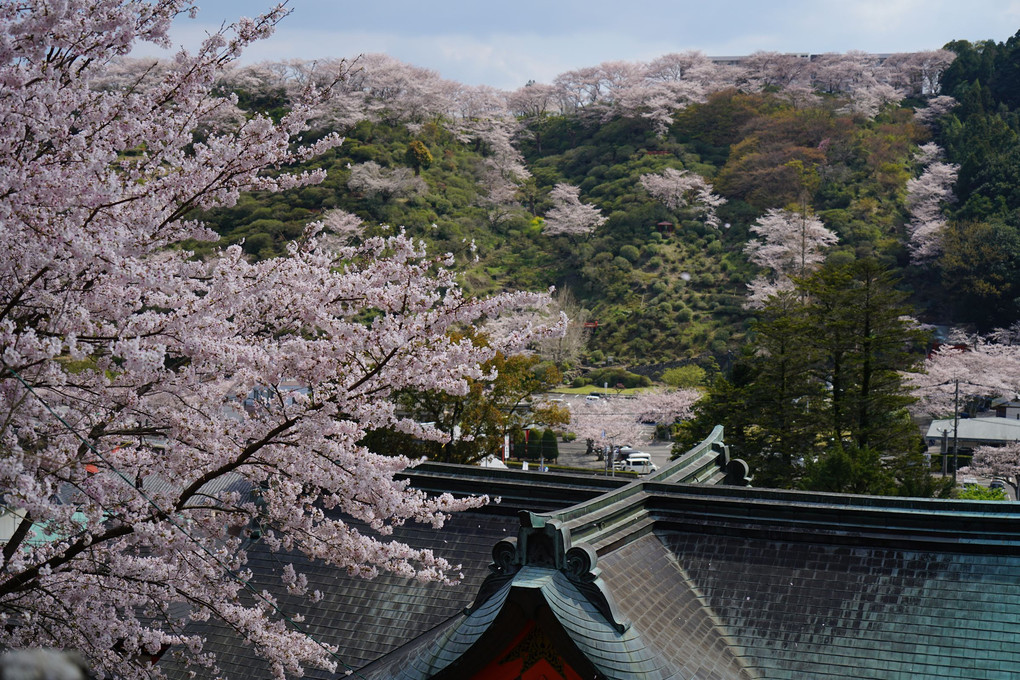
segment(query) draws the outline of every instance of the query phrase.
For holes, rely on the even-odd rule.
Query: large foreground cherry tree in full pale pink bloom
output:
[[[386,427],[438,436],[390,396],[462,394],[495,351],[546,331],[492,347],[451,331],[545,296],[468,299],[451,259],[404,236],[329,247],[321,224],[258,263],[238,247],[204,261],[169,248],[213,238],[189,218],[196,207],[321,180],[288,167],[341,143],[300,141],[322,99],[314,83],[277,121],[192,134],[235,106],[215,94],[222,69],[282,7],[180,53],[145,87],[92,87],[136,41],[166,46],[190,9],[0,8],[0,489],[21,518],[2,548],[0,646],[75,648],[97,673],[148,678],[134,660],[166,645],[214,666],[184,632],[212,618],[275,677],[299,676],[336,660],[283,618],[298,612],[241,596],[246,540],[258,531],[353,574],[456,580],[440,556],[387,536],[484,501],[412,491],[394,475],[414,461],[359,441]],[[300,573],[278,577],[317,596]]]

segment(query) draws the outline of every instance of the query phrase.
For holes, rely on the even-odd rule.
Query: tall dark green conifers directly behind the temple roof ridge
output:
[[[919,361],[923,334],[896,283],[861,260],[828,264],[770,298],[740,371],[712,386],[687,438],[725,425],[757,485],[944,494],[918,463],[901,371]]]

